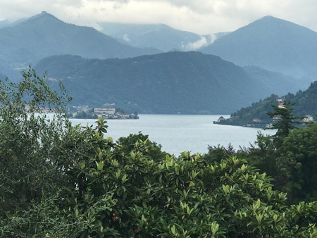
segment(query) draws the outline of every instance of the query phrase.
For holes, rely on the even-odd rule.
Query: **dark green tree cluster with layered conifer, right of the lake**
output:
[[[278,112],[278,111],[275,111]],[[287,192],[289,203],[316,201],[317,184],[317,124],[294,127],[294,118],[285,110],[285,119],[273,126],[278,129],[274,136],[259,132],[256,146],[235,151],[229,146],[209,146],[209,161],[237,156],[247,159],[261,173],[273,177],[275,189]],[[292,122],[291,122],[292,121]]]

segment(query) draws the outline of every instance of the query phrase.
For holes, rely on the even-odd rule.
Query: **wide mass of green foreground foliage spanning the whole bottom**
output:
[[[303,194],[305,186],[315,192],[301,169],[307,162],[313,172],[316,125],[292,130],[287,151],[271,150],[271,139],[259,136],[249,153],[175,159],[142,134],[104,139],[103,118],[94,128],[71,125],[61,89],[51,92],[31,69],[18,84],[1,81],[2,237],[316,237],[316,202],[287,205],[286,194],[252,167],[280,151],[285,171],[305,181]],[[44,105],[56,110],[53,120],[35,115]],[[242,157],[251,156],[258,160],[248,165]]]

